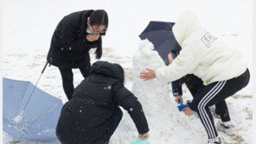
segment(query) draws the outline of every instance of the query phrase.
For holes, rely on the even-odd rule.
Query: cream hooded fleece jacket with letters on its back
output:
[[[175,81],[193,73],[209,85],[246,71],[245,56],[203,28],[194,13],[179,16],[172,30],[182,50],[170,66],[157,69],[158,79]]]

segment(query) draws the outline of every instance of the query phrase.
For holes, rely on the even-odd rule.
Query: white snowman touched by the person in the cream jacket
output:
[[[132,92],[138,97],[138,100],[144,106],[146,110],[165,109],[166,105],[170,105],[170,97],[168,95],[168,85],[161,83],[157,78],[149,81],[144,81],[139,78],[139,73],[145,71],[145,68],[156,70],[159,67],[164,67],[164,62],[157,53],[153,51],[153,44],[144,40],[141,41],[138,51],[133,55],[133,86]],[[168,103],[168,104],[167,104]],[[157,105],[161,104],[161,105]],[[159,112],[159,111],[158,111]],[[152,112],[146,116],[153,116]]]

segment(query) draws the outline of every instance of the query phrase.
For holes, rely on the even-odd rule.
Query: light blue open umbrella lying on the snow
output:
[[[61,99],[28,81],[3,78],[3,131],[15,139],[56,140],[62,106]]]

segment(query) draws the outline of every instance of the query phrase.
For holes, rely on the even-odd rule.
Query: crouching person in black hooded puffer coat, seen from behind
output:
[[[137,97],[124,86],[124,70],[118,64],[98,61],[92,73],[64,104],[56,128],[62,144],[105,144],[118,127],[122,106],[135,123],[139,137],[149,137],[148,123]]]

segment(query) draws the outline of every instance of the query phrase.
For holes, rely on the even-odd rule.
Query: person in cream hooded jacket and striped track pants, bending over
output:
[[[249,83],[248,60],[240,51],[228,47],[203,28],[193,12],[187,11],[179,16],[172,30],[182,47],[180,54],[170,66],[158,68],[157,71],[147,68],[147,72],[141,72],[140,77],[168,82],[193,73],[202,78],[206,88],[193,99],[184,113],[192,116],[196,111],[208,133],[208,143],[221,143],[208,107],[222,103]],[[233,126],[231,122],[223,122],[219,128],[228,132],[229,126]]]

